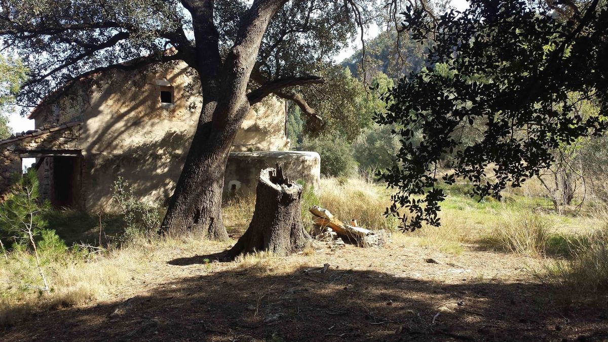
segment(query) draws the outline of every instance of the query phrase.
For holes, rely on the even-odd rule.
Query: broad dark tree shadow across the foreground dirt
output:
[[[196,258],[196,257],[195,257]],[[198,259],[197,259],[198,260]],[[190,260],[192,261],[192,260]],[[171,265],[181,265],[180,259]],[[192,265],[192,262],[187,263]],[[184,266],[175,266],[176,271]],[[69,341],[601,341],[601,312],[558,310],[541,284],[446,284],[374,270],[272,265],[149,284],[145,295],[38,313],[2,339]],[[206,273],[206,274],[205,274]]]

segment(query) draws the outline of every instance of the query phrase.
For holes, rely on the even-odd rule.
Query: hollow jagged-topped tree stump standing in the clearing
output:
[[[277,169],[261,170],[256,196],[249,228],[226,257],[233,259],[255,251],[285,256],[305,248],[310,236],[302,226],[300,214],[302,186],[289,183],[277,166]]]

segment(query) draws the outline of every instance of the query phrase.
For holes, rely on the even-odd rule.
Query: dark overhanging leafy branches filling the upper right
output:
[[[606,130],[606,2],[551,3],[474,0],[436,20],[420,9],[404,13],[412,38],[432,46],[427,67],[402,79],[376,118],[396,124],[401,137],[399,163],[381,177],[399,189],[389,212],[405,212],[404,228],[439,224],[441,178],[500,197],[549,166],[553,148]],[[583,116],[581,101],[599,113]],[[479,138],[465,143],[472,126]],[[442,174],[446,155],[453,169]]]

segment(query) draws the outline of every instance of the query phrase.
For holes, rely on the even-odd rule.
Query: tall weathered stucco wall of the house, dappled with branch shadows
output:
[[[97,75],[33,113],[36,127],[83,122],[81,208],[108,208],[119,175],[142,200],[164,203],[173,194],[201,110],[193,76],[182,62]],[[173,103],[161,103],[167,89]],[[247,114],[233,150],[283,150],[287,144],[284,102],[271,97]]]

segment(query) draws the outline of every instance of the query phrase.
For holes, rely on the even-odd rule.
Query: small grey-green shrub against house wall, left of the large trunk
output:
[[[133,193],[133,187],[125,178],[119,176],[114,182],[112,198],[118,204],[125,222],[123,240],[150,237],[161,226],[161,209],[137,198]]]

